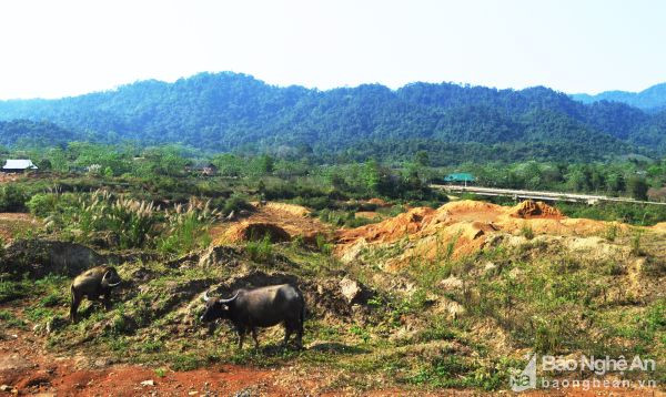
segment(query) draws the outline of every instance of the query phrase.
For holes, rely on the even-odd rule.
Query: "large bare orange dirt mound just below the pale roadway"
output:
[[[437,210],[417,207],[380,223],[337,231],[335,254],[344,262],[362,255],[366,247],[401,242],[400,254],[385,262],[387,269],[426,258],[461,258],[483,250],[497,233],[519,235],[529,227],[535,235],[591,236],[609,223],[567,218],[542,202],[526,201],[513,207],[458,201]],[[615,224],[625,232],[629,226]]]

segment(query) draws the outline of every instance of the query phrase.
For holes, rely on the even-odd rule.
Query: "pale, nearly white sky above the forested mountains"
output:
[[[0,2],[0,99],[233,71],[326,90],[414,81],[567,93],[666,82],[662,0]]]

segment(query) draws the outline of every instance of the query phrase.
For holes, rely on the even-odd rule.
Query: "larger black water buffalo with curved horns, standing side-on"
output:
[[[292,333],[296,334],[296,344],[303,346],[303,320],[305,299],[303,294],[289,284],[271,285],[255,289],[238,289],[229,299],[215,298],[204,294],[205,311],[202,322],[229,318],[239,333],[239,348],[248,330],[252,332],[255,347],[256,327],[270,327],[283,323],[284,345]]]

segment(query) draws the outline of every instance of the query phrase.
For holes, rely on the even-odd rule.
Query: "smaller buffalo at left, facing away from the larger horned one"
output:
[[[111,289],[120,283],[118,272],[111,266],[97,266],[78,275],[70,287],[72,294],[70,320],[75,323],[77,311],[83,296],[90,301],[100,301],[100,297],[103,296],[101,301],[104,307],[111,308]]]

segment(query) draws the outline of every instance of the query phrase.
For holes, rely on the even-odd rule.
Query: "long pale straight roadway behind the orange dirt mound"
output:
[[[666,203],[657,203],[649,201],[638,201],[634,198],[625,197],[609,197],[605,195],[592,195],[592,194],[576,194],[576,193],[562,193],[562,192],[541,192],[541,191],[524,191],[513,189],[495,189],[495,187],[482,187],[482,186],[463,186],[463,185],[431,185],[433,189],[441,189],[452,193],[474,193],[485,196],[505,196],[518,198],[531,198],[531,200],[543,200],[543,201],[566,201],[575,203],[588,203],[596,204],[599,202],[618,202],[618,203],[634,203],[634,204],[654,204],[654,205],[666,205]]]

